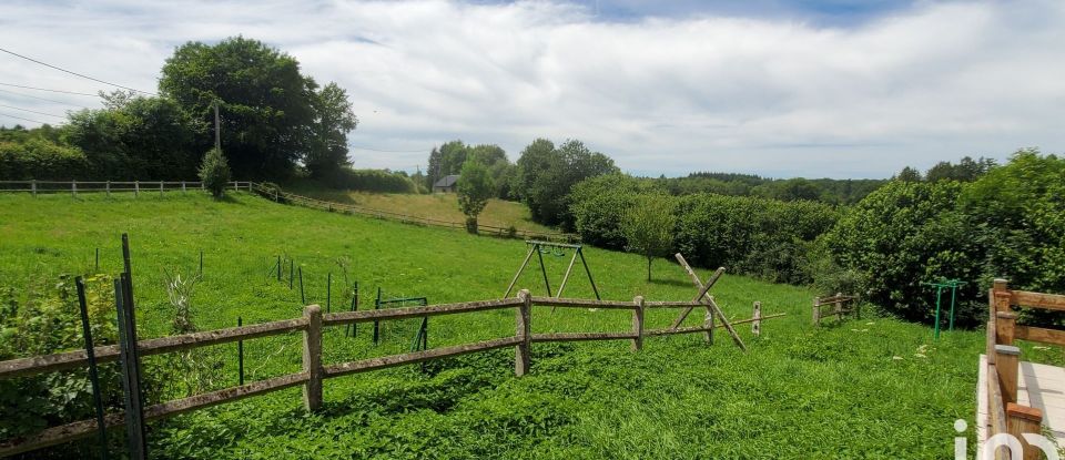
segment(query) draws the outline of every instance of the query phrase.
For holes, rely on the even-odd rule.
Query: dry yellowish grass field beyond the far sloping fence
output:
[[[321,187],[296,187],[292,193],[336,203],[354,204],[372,209],[382,209],[416,217],[434,218],[462,223],[466,219],[458,209],[458,195],[454,193],[434,193],[429,195],[408,193],[369,193],[352,191],[328,191]],[[555,232],[555,229],[532,222],[529,208],[521,203],[504,200],[490,200],[485,211],[477,217],[481,225],[530,232]]]

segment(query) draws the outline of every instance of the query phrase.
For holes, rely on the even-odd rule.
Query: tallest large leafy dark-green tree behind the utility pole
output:
[[[347,162],[346,137],[357,120],[344,90],[320,89],[295,58],[261,41],[185,43],[166,60],[159,86],[196,120],[213,123],[219,104],[236,177],[281,177],[298,162],[321,176]]]

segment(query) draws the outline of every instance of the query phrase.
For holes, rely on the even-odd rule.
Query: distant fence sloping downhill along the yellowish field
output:
[[[394,213],[390,211],[375,209],[353,204],[328,202],[324,200],[312,198],[310,196],[297,195],[294,193],[284,192],[282,190],[265,186],[258,183],[252,183],[251,190],[257,192],[258,194],[271,198],[278,203],[292,203],[301,206],[313,207],[316,209],[323,209],[328,212],[341,212],[347,214],[358,214],[367,217],[375,217],[382,219],[397,221],[406,224],[417,224],[417,225],[427,225],[427,226],[438,226],[438,227],[448,227],[448,228],[466,228],[465,222],[453,222],[453,221],[443,221],[430,217],[423,216],[412,216],[407,214]],[[516,238],[538,238],[546,239],[551,242],[566,242],[566,243],[576,243],[580,241],[580,237],[570,233],[558,233],[558,232],[537,232],[514,228],[511,233],[510,228],[498,227],[494,225],[477,224],[477,232],[483,234],[491,234],[497,236],[513,236]]]

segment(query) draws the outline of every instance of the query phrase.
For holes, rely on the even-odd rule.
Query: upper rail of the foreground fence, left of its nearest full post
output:
[[[257,325],[232,327],[203,333],[184,334],[180,336],[160,337],[138,343],[141,356],[161,355],[189,348],[220,345],[237,340],[247,340],[302,330],[307,327],[306,319],[286,319],[282,321],[262,323]],[[119,346],[109,345],[93,348],[97,362],[113,362],[119,360]],[[34,356],[30,358],[0,361],[0,378],[23,377],[34,374],[65,370],[89,365],[85,350],[68,351],[53,355]]]

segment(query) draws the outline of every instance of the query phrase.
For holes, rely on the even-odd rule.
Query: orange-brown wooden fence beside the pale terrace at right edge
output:
[[[1024,459],[1039,458],[1039,449],[1028,446],[1021,433],[1041,433],[1041,410],[1017,403],[1021,349],[1014,340],[1065,345],[1065,331],[1016,324],[1014,306],[1065,311],[1065,296],[1010,290],[1005,279],[995,279],[988,293],[991,318],[987,321],[987,439],[1010,433],[1024,444]],[[1008,456],[1003,449],[996,459]]]

